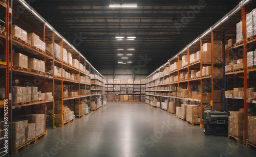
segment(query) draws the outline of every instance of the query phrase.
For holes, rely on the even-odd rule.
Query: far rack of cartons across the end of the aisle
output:
[[[145,101],[145,79],[109,79],[105,85],[108,101]]]

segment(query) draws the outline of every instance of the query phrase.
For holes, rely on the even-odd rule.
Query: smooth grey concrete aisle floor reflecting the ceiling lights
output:
[[[161,109],[143,102],[107,106],[48,136],[14,156],[255,156],[255,149],[222,136],[205,136]]]

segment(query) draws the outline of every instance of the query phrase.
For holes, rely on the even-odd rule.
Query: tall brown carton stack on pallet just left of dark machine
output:
[[[200,106],[199,105],[187,105],[186,119],[190,123],[200,123]]]

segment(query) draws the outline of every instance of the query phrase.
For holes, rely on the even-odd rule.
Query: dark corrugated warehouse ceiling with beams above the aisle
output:
[[[228,13],[240,1],[63,1],[36,0],[30,5],[95,67],[152,59],[157,68]],[[137,4],[137,8],[109,8],[110,4]],[[200,5],[201,4],[201,5]],[[117,41],[116,36],[135,36]],[[135,48],[120,51],[118,48]],[[121,59],[117,54],[133,54]],[[143,62],[141,63],[143,64]]]

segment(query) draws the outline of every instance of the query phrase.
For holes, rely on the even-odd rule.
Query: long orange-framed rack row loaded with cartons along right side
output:
[[[186,108],[198,105],[198,121],[192,123],[200,123],[201,127],[205,109],[229,111],[229,124],[233,123],[233,113],[242,113],[243,123],[238,125],[241,134],[233,136],[229,125],[229,137],[255,147],[251,117],[256,115],[255,8],[255,1],[242,1],[147,76],[146,104],[163,108],[161,102],[167,102],[166,110],[183,120],[188,118],[182,115],[184,104]]]

